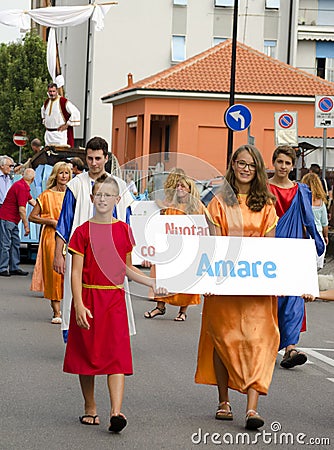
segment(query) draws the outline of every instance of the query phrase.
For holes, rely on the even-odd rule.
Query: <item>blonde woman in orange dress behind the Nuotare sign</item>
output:
[[[182,215],[182,214],[204,214],[205,207],[201,203],[199,192],[194,181],[186,176],[180,176],[174,189],[174,197],[168,208],[163,209],[161,214]],[[152,266],[151,276],[155,277],[155,266]],[[179,312],[175,317],[176,322],[184,322],[187,318],[187,308],[189,305],[198,305],[201,303],[201,297],[198,294],[174,294],[164,298],[164,301],[158,300],[157,305],[151,311],[144,314],[146,319],[153,319],[156,316],[162,316],[166,313],[165,304],[179,306]]]

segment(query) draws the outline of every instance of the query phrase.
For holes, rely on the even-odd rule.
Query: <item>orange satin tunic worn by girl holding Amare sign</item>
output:
[[[223,236],[261,237],[277,223],[275,207],[253,212],[240,195],[240,208],[209,204],[212,221]],[[252,387],[267,394],[279,346],[277,298],[273,296],[205,297],[195,382],[217,384],[213,352],[228,372],[228,386],[242,393]]]

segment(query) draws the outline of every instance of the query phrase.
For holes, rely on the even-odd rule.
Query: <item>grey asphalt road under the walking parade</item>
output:
[[[33,267],[23,268],[31,272]],[[164,317],[144,319],[154,304],[145,289],[131,283],[140,296],[133,297],[134,375],[126,379],[123,408],[128,426],[111,435],[105,377],[98,377],[96,386],[101,425],[79,423],[83,402],[77,377],[62,372],[59,325],[50,324],[49,302],[29,291],[30,279],[0,280],[1,449],[240,449],[247,441],[256,441],[257,449],[286,449],[305,448],[312,438],[319,442],[315,448],[334,444],[334,302],[307,305],[309,331],[300,347],[309,362],[288,371],[279,367],[278,355],[271,390],[259,404],[266,434],[256,436],[243,427],[245,396],[233,392],[234,421],[218,422],[216,388],[193,381],[201,308],[189,308],[184,323],[172,320],[175,307]],[[324,438],[331,445],[320,444]]]

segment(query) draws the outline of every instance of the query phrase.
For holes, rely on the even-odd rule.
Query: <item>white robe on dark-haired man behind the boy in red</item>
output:
[[[118,177],[114,177],[118,183],[121,200],[117,204],[117,218],[125,222],[126,209],[133,202],[133,197],[126,188],[126,183]],[[88,172],[81,173],[67,184],[67,188],[70,189],[76,199],[76,207],[74,212],[74,219],[72,224],[71,236],[74,230],[86,222],[93,216],[93,203],[90,200],[90,194],[92,192],[92,179],[89,177]],[[62,331],[69,329],[71,304],[72,304],[72,289],[71,289],[71,268],[72,268],[72,255],[66,250],[66,267],[64,276],[64,297],[62,301]],[[134,315],[132,310],[131,296],[129,291],[128,279],[124,280],[125,301],[128,313],[129,331],[130,335],[136,334],[136,327],[134,321]]]

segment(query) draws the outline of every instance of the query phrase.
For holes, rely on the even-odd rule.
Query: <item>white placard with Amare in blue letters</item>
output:
[[[312,239],[183,236],[181,241],[166,235],[156,239],[170,249],[168,259],[156,265],[157,285],[169,292],[319,295]]]

